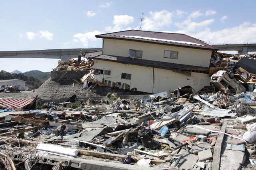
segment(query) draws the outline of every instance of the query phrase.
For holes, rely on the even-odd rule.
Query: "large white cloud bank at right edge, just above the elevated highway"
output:
[[[210,28],[206,28],[198,33],[191,33],[190,36],[208,43],[254,42],[256,39],[256,23],[244,22],[239,26],[219,31],[211,31]]]

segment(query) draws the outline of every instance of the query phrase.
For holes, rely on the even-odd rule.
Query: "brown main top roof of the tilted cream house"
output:
[[[156,43],[162,45],[207,49],[215,51],[218,50],[216,47],[213,47],[212,45],[204,41],[179,33],[128,30],[96,35],[96,37],[107,39],[121,39],[128,41],[139,41],[144,43]]]

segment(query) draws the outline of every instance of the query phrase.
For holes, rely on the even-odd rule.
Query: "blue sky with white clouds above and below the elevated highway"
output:
[[[102,47],[128,29],[185,33],[208,43],[256,42],[256,1],[0,0],[0,51]],[[50,71],[58,59],[0,58],[0,70]]]

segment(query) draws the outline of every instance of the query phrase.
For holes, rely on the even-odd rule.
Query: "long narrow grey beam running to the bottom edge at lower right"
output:
[[[213,160],[212,160],[212,170],[219,170],[220,168],[220,154],[221,154],[221,148],[222,148],[222,143],[223,139],[225,136],[225,131],[227,127],[228,121],[225,121],[221,127],[221,132],[219,133],[217,141],[215,143],[215,148],[214,148],[214,153],[213,153]]]

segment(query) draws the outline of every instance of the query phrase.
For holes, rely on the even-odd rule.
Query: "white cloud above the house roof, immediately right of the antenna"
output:
[[[169,26],[172,23],[172,13],[167,10],[160,12],[149,12],[150,16],[145,16],[142,21],[142,30],[158,31],[163,26]]]

